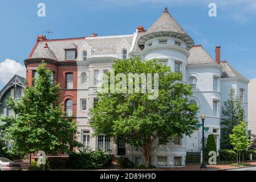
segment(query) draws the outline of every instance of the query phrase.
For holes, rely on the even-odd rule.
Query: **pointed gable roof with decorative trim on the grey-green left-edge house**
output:
[[[22,88],[26,88],[25,78],[14,75],[9,82],[5,86],[3,86],[2,90],[0,91],[0,101],[2,100],[2,97],[4,94],[14,86],[20,86]]]

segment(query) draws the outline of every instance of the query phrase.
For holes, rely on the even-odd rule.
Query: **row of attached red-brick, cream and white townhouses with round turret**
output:
[[[231,88],[240,96],[247,114],[247,80],[226,61],[220,60],[220,47],[216,47],[213,59],[202,46],[194,41],[169,14],[168,9],[148,30],[138,26],[131,35],[98,36],[73,39],[47,40],[38,36],[30,56],[25,60],[27,79],[32,85],[36,68],[44,60],[53,72],[55,81],[60,82],[59,102],[67,115],[75,115],[79,142],[92,150],[102,148],[116,156],[127,156],[136,165],[144,163],[141,152],[125,144],[125,138],[117,144],[111,138],[99,135],[92,137],[94,129],[90,109],[97,100],[97,85],[100,74],[111,69],[116,59],[140,56],[144,60],[158,59],[169,65],[173,72],[182,72],[183,81],[193,88],[190,103],[201,107],[198,118],[205,112],[205,135],[214,134],[220,148],[221,106],[228,99]],[[151,164],[157,167],[179,167],[185,165],[187,152],[200,152],[202,128],[191,137],[173,137],[152,151]],[[157,145],[156,140],[154,145]]]

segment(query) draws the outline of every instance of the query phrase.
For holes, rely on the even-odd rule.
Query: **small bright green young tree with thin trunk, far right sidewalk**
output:
[[[239,163],[241,163],[241,151],[246,150],[252,143],[247,135],[247,125],[244,121],[240,122],[233,128],[233,134],[229,135],[231,145],[234,147],[234,151],[237,152],[237,163],[239,153]]]

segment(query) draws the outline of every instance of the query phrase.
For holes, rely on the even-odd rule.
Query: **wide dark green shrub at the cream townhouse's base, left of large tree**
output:
[[[112,155],[102,150],[72,152],[66,162],[70,169],[103,169],[111,164]]]

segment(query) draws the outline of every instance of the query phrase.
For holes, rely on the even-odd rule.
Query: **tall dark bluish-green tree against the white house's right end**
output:
[[[221,148],[232,149],[230,144],[229,135],[232,133],[234,126],[239,122],[244,121],[245,111],[240,99],[235,94],[234,89],[230,89],[229,100],[225,101],[222,106],[222,118],[221,118]]]

